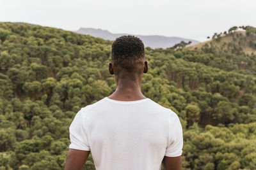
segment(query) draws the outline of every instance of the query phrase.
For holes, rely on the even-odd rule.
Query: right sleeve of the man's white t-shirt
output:
[[[176,113],[169,119],[170,132],[169,132],[169,143],[166,148],[166,157],[179,157],[182,154],[183,148],[183,134],[182,126],[180,124],[179,117]]]

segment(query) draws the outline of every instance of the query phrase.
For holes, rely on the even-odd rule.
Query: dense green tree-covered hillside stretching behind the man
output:
[[[256,29],[244,29],[256,49]],[[63,169],[77,111],[115,91],[112,43],[0,22],[0,169]],[[256,169],[256,55],[236,43],[177,46],[145,48],[141,90],[179,115],[183,169]],[[84,169],[95,169],[91,154]]]

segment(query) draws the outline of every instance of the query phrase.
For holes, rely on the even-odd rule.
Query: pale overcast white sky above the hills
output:
[[[256,27],[255,0],[0,0],[0,22],[205,41],[234,25]]]

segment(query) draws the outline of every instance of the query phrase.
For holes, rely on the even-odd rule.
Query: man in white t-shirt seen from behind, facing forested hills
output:
[[[81,108],[70,125],[65,170],[82,169],[90,151],[97,170],[181,169],[179,117],[141,93],[148,72],[141,39],[121,36],[112,45],[109,73],[116,90]]]

